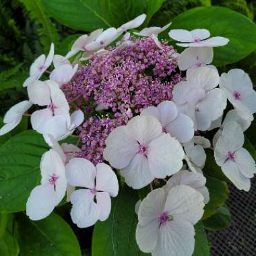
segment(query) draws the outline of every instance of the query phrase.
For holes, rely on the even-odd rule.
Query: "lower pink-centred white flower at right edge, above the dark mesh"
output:
[[[255,160],[243,148],[245,137],[238,123],[227,123],[216,142],[214,156],[222,172],[238,189],[249,191],[256,173]]]

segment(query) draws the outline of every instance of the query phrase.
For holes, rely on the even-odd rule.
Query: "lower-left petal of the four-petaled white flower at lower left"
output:
[[[74,191],[70,197],[71,219],[79,228],[93,226],[98,220],[98,209],[94,202],[94,196],[89,189],[79,189]]]

